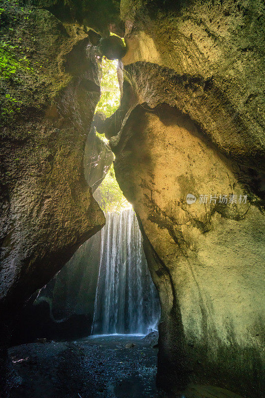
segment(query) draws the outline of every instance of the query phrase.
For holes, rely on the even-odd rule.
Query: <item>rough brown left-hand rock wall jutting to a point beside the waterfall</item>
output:
[[[44,9],[4,7],[1,38],[18,57],[22,42],[28,63],[0,83],[0,348],[23,302],[105,223],[84,176],[86,137],[100,96],[87,31]],[[12,113],[9,98],[20,109]],[[3,384],[4,367],[1,358]]]

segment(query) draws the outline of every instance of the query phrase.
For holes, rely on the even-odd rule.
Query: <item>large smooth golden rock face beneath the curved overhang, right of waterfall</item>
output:
[[[138,105],[119,145],[117,179],[140,219],[162,305],[158,380],[171,378],[174,388],[208,383],[216,372],[213,384],[237,391],[231,364],[242,385],[253,358],[261,360],[264,215],[239,203],[237,168],[177,109]],[[187,194],[196,202],[187,204]],[[219,203],[223,195],[238,203]]]

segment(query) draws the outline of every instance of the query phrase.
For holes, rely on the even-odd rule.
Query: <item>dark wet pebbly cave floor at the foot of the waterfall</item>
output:
[[[167,398],[155,386],[157,348],[143,336],[93,336],[9,349],[20,385],[10,398]],[[134,343],[133,348],[126,348]],[[174,398],[240,398],[190,386]]]

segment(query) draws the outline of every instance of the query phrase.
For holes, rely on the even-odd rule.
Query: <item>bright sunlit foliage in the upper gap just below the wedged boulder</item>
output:
[[[117,61],[102,58],[101,97],[96,107],[96,112],[111,116],[120,104],[120,88],[117,78]]]

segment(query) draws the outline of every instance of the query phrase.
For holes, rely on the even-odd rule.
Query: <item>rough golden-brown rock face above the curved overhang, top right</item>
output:
[[[176,1],[161,7],[151,3],[121,1],[127,45],[124,65],[150,62],[184,80],[191,77],[195,85],[202,79],[204,93],[192,93],[190,87],[189,100],[175,93],[176,97],[181,94],[175,100],[182,102],[184,112],[200,125],[202,115],[205,122],[208,119],[208,127],[203,126],[208,134],[222,125],[227,131],[219,133],[215,141],[219,144],[227,133],[230,139],[224,150],[264,154],[263,2]],[[174,85],[168,90],[174,96]],[[161,100],[164,94],[160,92]],[[231,147],[237,134],[243,136],[241,148]],[[244,135],[252,148],[247,143],[244,146]]]

